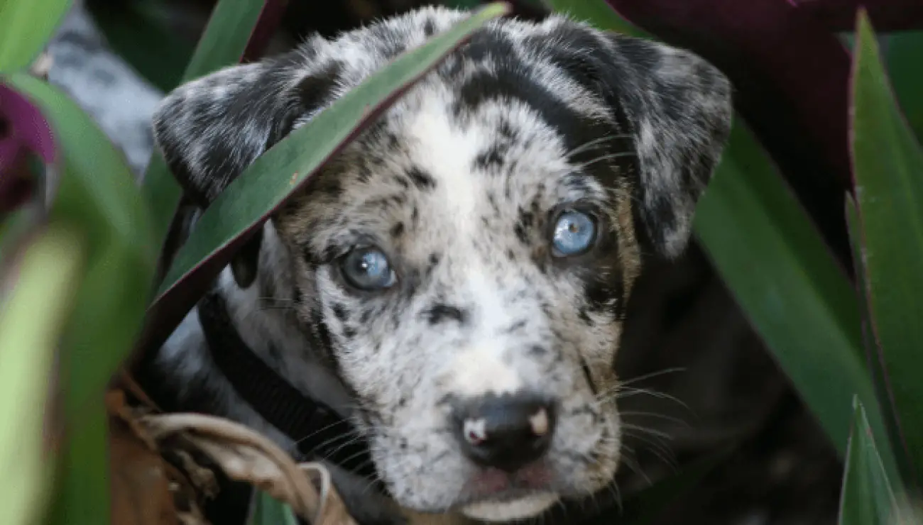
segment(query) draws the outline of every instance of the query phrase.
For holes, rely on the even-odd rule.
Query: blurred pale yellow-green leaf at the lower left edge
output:
[[[65,225],[33,232],[0,304],[0,523],[42,518],[51,481],[46,427],[58,338],[72,312],[83,239]]]

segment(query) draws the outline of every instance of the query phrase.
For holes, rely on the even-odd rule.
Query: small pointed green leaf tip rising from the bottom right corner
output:
[[[854,400],[853,404],[855,413],[846,447],[839,525],[896,525],[902,521],[897,520],[899,507],[892,481],[884,471],[862,403]]]

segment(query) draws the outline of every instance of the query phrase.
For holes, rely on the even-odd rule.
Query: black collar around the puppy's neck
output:
[[[198,303],[198,319],[211,358],[241,398],[267,422],[297,442],[308,459],[326,459],[356,474],[376,479],[365,439],[354,439],[352,424],[308,398],[276,374],[241,339],[217,292]]]

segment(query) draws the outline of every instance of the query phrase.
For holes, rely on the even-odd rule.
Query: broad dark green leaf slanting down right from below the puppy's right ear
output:
[[[694,226],[737,303],[840,453],[855,394],[885,440],[864,364],[856,292],[739,120]]]

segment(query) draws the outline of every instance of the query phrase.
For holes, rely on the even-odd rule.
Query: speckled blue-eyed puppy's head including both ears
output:
[[[158,141],[207,206],[462,16],[427,8],[187,84],[157,113]],[[685,245],[729,92],[657,43],[497,21],[274,217],[306,337],[354,391],[402,506],[521,519],[611,482],[631,284],[642,253]]]

